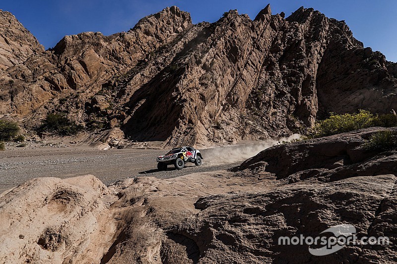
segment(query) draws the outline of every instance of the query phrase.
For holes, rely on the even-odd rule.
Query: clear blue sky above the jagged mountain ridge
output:
[[[313,7],[328,17],[345,20],[365,47],[397,61],[397,1],[380,0],[1,0],[43,44],[54,47],[63,36],[84,31],[105,35],[127,31],[145,15],[177,5],[192,14],[193,23],[214,22],[225,11],[237,9],[252,19],[270,3],[272,13],[288,16],[300,6]]]

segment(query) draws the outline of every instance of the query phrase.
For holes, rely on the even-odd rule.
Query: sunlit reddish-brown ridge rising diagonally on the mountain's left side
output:
[[[66,36],[54,49],[32,55],[2,73],[1,113],[35,119],[57,108],[84,121],[84,103],[104,82],[134,67],[145,53],[172,40],[190,24],[189,14],[172,7],[142,19],[129,32],[107,37],[99,32]],[[69,103],[66,109],[60,104],[65,97],[73,97],[63,101]]]

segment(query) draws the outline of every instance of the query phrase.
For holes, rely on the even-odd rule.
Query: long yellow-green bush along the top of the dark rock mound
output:
[[[329,118],[317,122],[313,128],[307,131],[306,139],[326,137],[374,126],[397,126],[397,116],[395,114],[374,115],[366,110],[359,110],[358,113],[352,114],[331,113]]]

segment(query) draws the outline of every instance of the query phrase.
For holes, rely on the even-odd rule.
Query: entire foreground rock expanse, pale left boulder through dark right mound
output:
[[[32,180],[0,198],[0,260],[396,263],[396,154],[360,150],[377,130],[272,147],[236,172],[141,177],[108,188],[93,176]],[[390,244],[347,245],[326,256],[278,244],[340,224]]]

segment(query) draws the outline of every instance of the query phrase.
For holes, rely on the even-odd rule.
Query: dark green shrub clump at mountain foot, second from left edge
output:
[[[61,136],[75,135],[83,129],[82,125],[70,120],[65,115],[51,113],[44,119],[41,131],[53,132]]]

